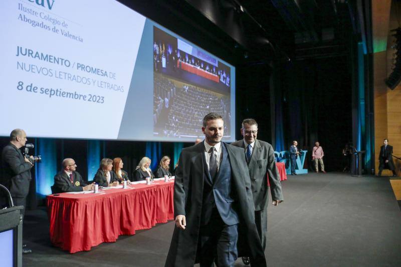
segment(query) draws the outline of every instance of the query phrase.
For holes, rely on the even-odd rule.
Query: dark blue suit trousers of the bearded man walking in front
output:
[[[200,226],[198,251],[200,267],[234,266],[238,258],[238,224],[227,225],[220,218],[213,218],[208,224]]]

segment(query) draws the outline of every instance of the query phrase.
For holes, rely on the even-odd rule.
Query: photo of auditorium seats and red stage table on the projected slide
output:
[[[216,112],[230,137],[230,67],[157,27],[153,38],[153,135],[202,138],[203,118]]]

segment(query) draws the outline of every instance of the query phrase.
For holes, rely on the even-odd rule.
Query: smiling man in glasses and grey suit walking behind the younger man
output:
[[[269,178],[270,181],[273,205],[277,206],[283,201],[280,174],[276,167],[272,145],[257,139],[258,124],[254,119],[245,119],[242,122],[241,135],[244,139],[234,142],[232,145],[241,147],[245,154],[252,184],[252,195],[255,205],[255,223],[258,228],[263,250],[265,250],[267,236],[267,205],[269,199],[267,179]],[[245,264],[249,264],[249,259],[247,257],[243,257],[243,261]]]

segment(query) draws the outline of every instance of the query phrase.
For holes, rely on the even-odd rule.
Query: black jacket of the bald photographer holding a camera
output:
[[[3,148],[3,183],[13,197],[26,197],[29,192],[32,164],[26,162],[21,150],[12,143]]]

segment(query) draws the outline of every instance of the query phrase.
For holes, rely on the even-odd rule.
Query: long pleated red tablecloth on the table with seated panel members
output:
[[[52,243],[75,253],[173,219],[173,181],[131,186],[134,189],[47,196]]]

